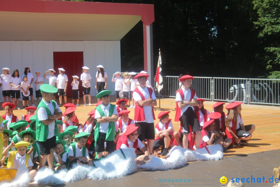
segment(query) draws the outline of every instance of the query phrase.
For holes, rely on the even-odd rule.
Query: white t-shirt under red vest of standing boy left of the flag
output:
[[[149,94],[149,91],[148,91],[147,87],[145,87],[143,89],[141,86],[138,86],[137,88],[144,95],[145,100],[150,99],[150,94]],[[139,100],[142,100],[141,96],[136,92],[133,92],[133,98],[134,98],[135,102],[137,102]],[[151,99],[152,100],[157,99],[154,92],[152,93]],[[144,121],[138,121],[138,122],[154,123],[152,107],[151,106],[144,106],[143,110],[144,110],[145,120]]]

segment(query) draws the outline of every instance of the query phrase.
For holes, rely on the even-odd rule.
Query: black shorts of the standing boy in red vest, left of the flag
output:
[[[147,140],[154,140],[155,139],[155,126],[154,123],[147,123],[147,122],[137,122],[136,126],[140,127],[139,140],[144,141]],[[138,128],[139,129],[139,128]]]

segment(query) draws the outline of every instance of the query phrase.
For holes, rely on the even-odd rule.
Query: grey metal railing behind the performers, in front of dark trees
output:
[[[164,86],[160,95],[175,98],[175,93],[179,89],[178,77],[162,76],[162,78]],[[209,101],[241,101],[247,104],[280,106],[280,79],[194,77],[192,88],[198,98]],[[158,96],[157,91],[155,94]]]

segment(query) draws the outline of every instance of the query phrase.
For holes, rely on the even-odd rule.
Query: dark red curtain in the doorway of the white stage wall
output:
[[[55,75],[58,76],[58,68],[63,68],[65,70],[65,74],[68,77],[67,84],[67,92],[66,96],[72,96],[72,86],[71,83],[73,81],[74,75],[78,77],[81,76],[84,66],[84,58],[83,52],[53,52],[53,69],[56,71]],[[78,79],[79,84],[79,94],[82,95],[82,82]]]

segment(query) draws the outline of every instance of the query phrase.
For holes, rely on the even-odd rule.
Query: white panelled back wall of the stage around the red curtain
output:
[[[28,65],[31,66],[34,77],[36,76],[35,70],[41,71],[43,77],[48,69],[53,68],[53,52],[70,51],[83,51],[84,66],[90,68],[88,72],[92,77],[91,96],[96,95],[94,85],[96,66],[99,64],[104,66],[104,70],[108,74],[107,89],[112,90],[112,94],[115,93],[115,83],[111,82],[111,79],[113,73],[120,71],[121,67],[120,41],[0,41],[1,74],[3,73],[2,68],[8,67],[11,69],[9,73],[18,69],[21,76],[24,72],[23,67]],[[66,75],[72,81],[72,75],[68,75],[67,72]],[[44,81],[48,84],[47,79]],[[33,89],[34,87],[33,83]],[[0,98],[3,102],[2,89],[0,90]],[[36,100],[35,90],[34,100]]]

